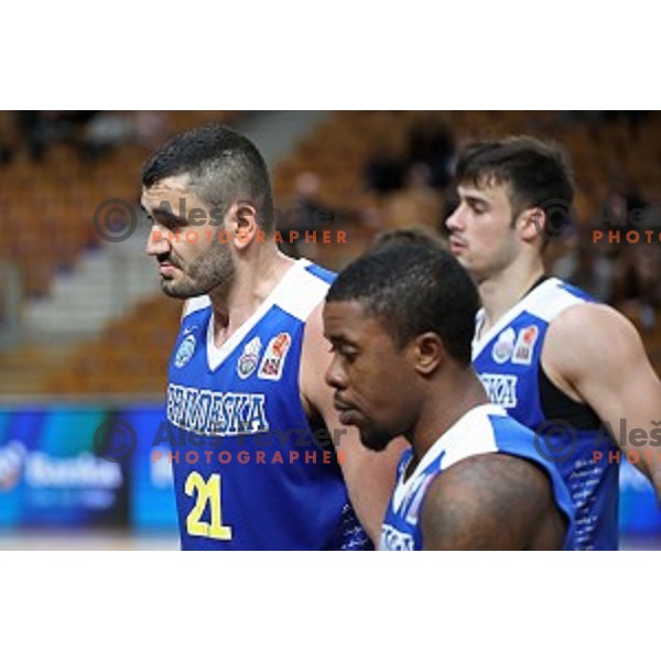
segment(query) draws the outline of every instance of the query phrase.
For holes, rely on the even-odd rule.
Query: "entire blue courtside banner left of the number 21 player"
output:
[[[0,408],[1,528],[175,528],[162,408]],[[108,447],[110,446],[110,451]]]

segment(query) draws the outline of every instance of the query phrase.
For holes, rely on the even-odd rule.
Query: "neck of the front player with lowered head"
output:
[[[429,392],[427,405],[407,438],[413,447],[411,472],[427,451],[468,411],[487,404],[489,399],[473,368],[455,368]]]

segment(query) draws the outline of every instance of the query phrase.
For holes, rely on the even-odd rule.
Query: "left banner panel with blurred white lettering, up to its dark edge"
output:
[[[0,524],[126,524],[126,468],[94,449],[107,415],[69,405],[0,410]]]

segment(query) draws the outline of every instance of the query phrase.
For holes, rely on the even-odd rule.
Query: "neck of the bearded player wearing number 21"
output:
[[[268,299],[294,260],[264,247],[239,260],[231,282],[209,292],[217,346],[245,324]],[[272,248],[272,249],[269,249]]]

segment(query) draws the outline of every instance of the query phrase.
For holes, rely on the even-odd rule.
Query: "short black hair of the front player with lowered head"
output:
[[[436,333],[455,360],[470,365],[479,296],[446,250],[392,246],[369,252],[339,273],[326,301],[358,301],[399,348],[422,333]]]

